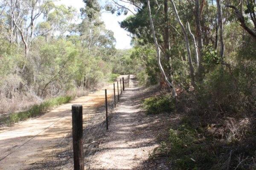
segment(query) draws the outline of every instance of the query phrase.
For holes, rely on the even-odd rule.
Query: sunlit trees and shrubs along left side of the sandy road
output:
[[[131,51],[115,48],[101,10],[86,0],[80,13],[55,0],[0,1],[0,122],[38,116],[129,73]]]

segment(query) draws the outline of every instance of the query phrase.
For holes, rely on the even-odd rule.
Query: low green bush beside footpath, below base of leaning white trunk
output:
[[[175,109],[175,98],[169,95],[154,96],[143,101],[146,114],[159,114],[173,112]]]

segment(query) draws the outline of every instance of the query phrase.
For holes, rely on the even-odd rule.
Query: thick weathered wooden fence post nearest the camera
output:
[[[84,170],[82,105],[72,105],[72,133],[74,170]]]

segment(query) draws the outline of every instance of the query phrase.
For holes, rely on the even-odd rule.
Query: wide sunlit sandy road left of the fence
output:
[[[113,84],[108,86],[108,98]],[[44,159],[72,130],[71,105],[83,105],[83,117],[104,105],[105,91],[74,99],[38,118],[0,128],[0,170],[22,170]]]

